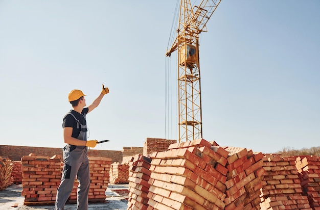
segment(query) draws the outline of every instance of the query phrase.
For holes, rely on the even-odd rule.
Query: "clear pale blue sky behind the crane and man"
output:
[[[199,1],[198,1],[199,2]],[[0,144],[63,147],[67,94],[87,104],[95,149],[177,139],[166,57],[176,1],[0,0]],[[320,146],[320,1],[221,1],[200,37],[203,138],[263,153]],[[167,135],[166,135],[167,134]]]

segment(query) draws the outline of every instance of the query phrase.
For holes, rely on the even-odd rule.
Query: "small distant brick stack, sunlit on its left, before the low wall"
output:
[[[112,163],[110,167],[110,183],[129,182],[129,164]]]

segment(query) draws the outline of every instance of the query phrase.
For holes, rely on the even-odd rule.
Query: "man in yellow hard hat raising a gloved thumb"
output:
[[[88,107],[81,90],[72,90],[68,94],[68,100],[73,110],[63,118],[63,139],[67,145],[63,148],[63,172],[61,183],[57,190],[55,210],[62,210],[69,198],[74,181],[77,178],[77,209],[88,209],[88,193],[90,186],[89,160],[87,147],[95,147],[97,140],[87,140],[87,127],[85,116],[99,106],[101,99],[109,89],[102,85],[100,95]]]

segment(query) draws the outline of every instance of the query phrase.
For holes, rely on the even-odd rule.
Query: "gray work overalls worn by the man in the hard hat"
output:
[[[81,126],[81,131],[77,139],[86,141],[86,125],[82,125],[72,113],[68,114],[72,115],[76,119],[78,128]],[[90,172],[87,151],[88,149],[86,146],[74,146],[67,144],[63,148],[64,166],[61,183],[57,190],[55,210],[63,210],[64,204],[72,192],[76,178],[79,181],[77,191],[77,209],[88,209]]]

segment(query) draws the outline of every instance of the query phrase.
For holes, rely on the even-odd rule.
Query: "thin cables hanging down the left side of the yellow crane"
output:
[[[176,2],[176,7],[174,11],[174,16],[171,24],[171,31],[170,31],[170,36],[168,40],[168,45],[167,45],[167,50],[169,47],[169,44],[173,43],[173,40],[175,39],[175,32],[174,29],[177,29],[177,22],[178,22],[178,15],[179,15],[179,1],[177,0]],[[167,139],[173,139],[172,138],[172,89],[171,89],[171,84],[172,84],[172,78],[171,78],[171,62],[170,62],[170,57],[166,57],[166,77],[165,77],[165,138]],[[175,74],[176,75],[176,74]],[[175,91],[176,92],[176,91]],[[177,94],[175,93],[175,96],[177,97]],[[176,124],[176,123],[175,123]],[[171,129],[170,129],[171,128]],[[175,129],[176,130],[176,129]],[[171,131],[171,136],[170,136],[170,131]],[[176,135],[175,135],[176,136]]]

